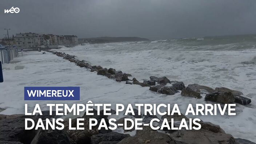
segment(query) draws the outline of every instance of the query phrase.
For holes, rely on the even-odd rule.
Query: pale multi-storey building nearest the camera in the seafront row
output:
[[[16,34],[15,41],[19,49],[39,48],[50,43],[50,40],[44,38],[43,35],[31,32]]]

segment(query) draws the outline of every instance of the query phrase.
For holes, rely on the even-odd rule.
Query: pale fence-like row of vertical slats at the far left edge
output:
[[[17,48],[0,48],[0,61],[8,64],[13,58],[19,55]]]

